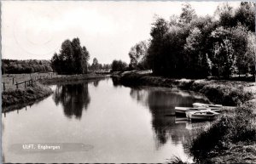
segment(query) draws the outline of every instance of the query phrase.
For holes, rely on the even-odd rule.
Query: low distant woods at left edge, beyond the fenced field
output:
[[[49,60],[2,59],[2,74],[34,73],[52,71]]]

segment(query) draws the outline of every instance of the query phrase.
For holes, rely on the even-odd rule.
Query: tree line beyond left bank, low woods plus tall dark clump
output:
[[[88,71],[109,71],[111,65],[100,64],[96,58],[90,65],[88,50],[80,45],[79,38],[65,40],[61,44],[60,53],[55,53],[50,60],[17,60],[2,59],[2,73],[19,74],[55,71],[58,74],[84,74]]]

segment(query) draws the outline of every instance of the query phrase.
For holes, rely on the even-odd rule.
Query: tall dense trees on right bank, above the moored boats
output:
[[[255,71],[255,3],[218,6],[199,17],[189,3],[170,20],[155,17],[148,41],[131,48],[131,69],[172,77],[230,77]]]

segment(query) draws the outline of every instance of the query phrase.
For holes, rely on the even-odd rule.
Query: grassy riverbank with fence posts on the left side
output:
[[[3,82],[9,82],[9,78],[12,76],[3,76]],[[42,75],[41,75],[42,76]],[[9,88],[2,93],[2,111],[15,110],[22,108],[26,105],[32,105],[38,100],[44,99],[52,93],[52,90],[45,84],[55,84],[58,82],[77,82],[83,80],[92,80],[96,78],[103,78],[105,75],[87,74],[87,75],[61,75],[61,76],[48,76],[42,79],[38,79],[33,82],[32,87],[21,86],[19,88],[12,87],[9,84]],[[16,74],[15,79],[21,79],[20,81],[26,81],[31,78],[30,74]]]

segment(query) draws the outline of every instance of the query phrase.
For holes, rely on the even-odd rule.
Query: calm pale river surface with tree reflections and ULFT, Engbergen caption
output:
[[[2,114],[6,162],[167,162],[191,160],[184,145],[195,124],[175,106],[207,102],[170,88],[126,88],[111,78],[50,86],[48,98]],[[61,150],[24,150],[23,144]],[[84,147],[81,148],[81,146]]]

